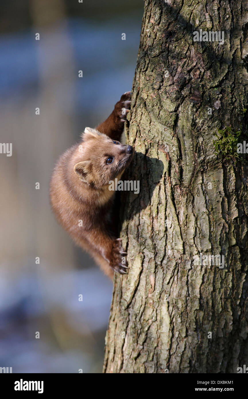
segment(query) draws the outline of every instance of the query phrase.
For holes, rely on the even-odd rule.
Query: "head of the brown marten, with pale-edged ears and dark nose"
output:
[[[74,172],[81,181],[94,188],[108,186],[120,178],[134,156],[132,146],[112,140],[95,129],[85,128],[81,152],[76,158]]]

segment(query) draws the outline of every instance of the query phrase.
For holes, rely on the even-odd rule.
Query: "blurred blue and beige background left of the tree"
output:
[[[143,6],[1,0],[0,367],[13,373],[102,371],[112,282],[57,224],[49,179],[131,90]]]

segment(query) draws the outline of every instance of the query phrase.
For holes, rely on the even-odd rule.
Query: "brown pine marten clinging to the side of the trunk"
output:
[[[59,158],[50,183],[59,223],[110,278],[114,271],[124,274],[128,269],[121,239],[112,233],[114,191],[109,182],[120,179],[134,156],[132,146],[120,143],[130,100],[130,91],[124,93],[104,122],[85,128],[81,142]]]

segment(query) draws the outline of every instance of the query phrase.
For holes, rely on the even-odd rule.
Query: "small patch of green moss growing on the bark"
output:
[[[238,158],[237,144],[240,134],[241,130],[234,132],[231,126],[218,129],[218,133],[215,133],[216,139],[213,142],[215,153],[222,158]]]

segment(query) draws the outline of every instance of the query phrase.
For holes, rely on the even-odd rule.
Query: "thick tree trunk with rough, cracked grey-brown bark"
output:
[[[130,269],[114,279],[105,373],[248,365],[247,16],[247,1],[145,2],[127,129],[140,193],[122,195]],[[193,41],[200,29],[224,43]]]

